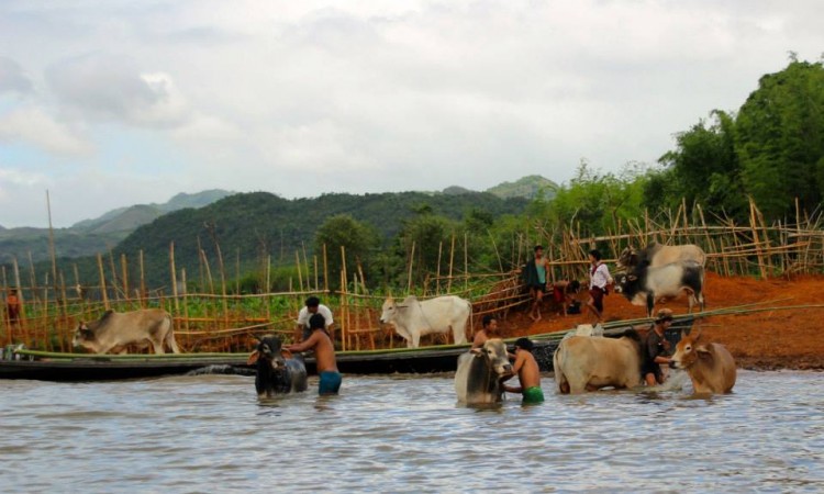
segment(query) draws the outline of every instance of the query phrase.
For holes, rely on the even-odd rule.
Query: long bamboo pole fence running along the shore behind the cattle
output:
[[[464,252],[456,252],[453,236],[448,246],[438,246],[436,271],[430,273],[421,285],[414,285],[410,274],[405,294],[414,293],[422,299],[455,294],[472,301],[471,324],[468,325],[471,333],[485,314],[505,317],[508,311],[523,307],[528,301],[519,269],[530,257],[534,244],[547,246],[548,277],[553,282],[586,280],[587,255],[592,248],[599,248],[605,261],[614,262],[627,246],[643,247],[652,242],[699,245],[708,255],[708,270],[725,277],[822,273],[824,229],[820,217],[810,218],[797,207],[794,223],[767,225],[755,203],[750,201],[749,207],[749,221],[745,225],[728,218],[715,218],[713,224],[708,224],[700,205],[688,211],[686,204],[675,213],[667,212],[657,218],[645,214],[643,218],[630,222],[617,221],[613,231],[600,236],[581,235],[577,224],[561,225],[552,232],[544,224],[535,224],[513,236],[509,252],[492,240],[499,266],[495,272],[470,272],[468,237],[464,237]],[[379,322],[381,304],[390,293],[370,291],[359,263],[346,266],[344,261],[341,289],[330,290],[326,246],[319,252],[321,257],[314,256],[311,261],[303,247],[294,254],[297,289],[290,281],[288,291],[237,294],[235,284],[233,294],[220,245],[213,240],[216,259],[210,262],[198,239],[199,282],[192,283],[199,287],[196,292],[189,291],[186,270],[176,267],[174,243],[169,245],[168,255],[170,285],[155,290],[146,288],[142,251],[136,273],[130,271],[125,255],[119,262],[111,252],[108,262],[103,255],[98,255],[98,279],[91,283],[83,280],[83,283],[75,266],[74,285],[66,283],[55,262],[48,272],[35,273],[31,254],[25,280],[23,269],[14,259],[10,267],[2,267],[1,281],[5,296],[11,288],[16,289],[20,317],[11,321],[7,311],[0,312],[0,345],[23,344],[46,351],[70,351],[74,332],[82,321],[97,319],[110,308],[123,312],[163,307],[174,316],[178,345],[183,351],[246,351],[254,344],[253,335],[275,333],[285,339],[294,338],[298,312],[310,295],[320,296],[322,303],[333,308],[334,336],[339,349],[391,348],[404,344],[391,328]],[[412,244],[407,266],[409,273],[413,272],[415,249]],[[508,256],[502,256],[502,252]],[[343,247],[341,254],[345,260]],[[215,265],[218,280],[212,272]],[[240,259],[235,266],[240,266]],[[269,287],[270,257],[263,266],[265,285]],[[237,283],[240,268],[235,271]],[[130,273],[133,274],[131,278]],[[133,281],[135,279],[138,281]],[[448,343],[444,338],[448,337],[430,336],[423,343]]]

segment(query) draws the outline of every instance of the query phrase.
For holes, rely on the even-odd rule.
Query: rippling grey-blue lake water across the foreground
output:
[[[0,381],[0,491],[824,492],[824,373],[741,371],[712,398],[553,384],[467,408],[447,374],[265,404],[240,375]]]

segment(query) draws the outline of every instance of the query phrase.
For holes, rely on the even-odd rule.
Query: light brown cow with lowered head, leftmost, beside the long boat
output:
[[[105,311],[103,316],[91,323],[81,322],[75,332],[71,345],[83,347],[94,353],[108,353],[136,344],[146,348],[152,345],[155,353],[165,353],[164,344],[175,353],[180,349],[175,341],[171,315],[163,308],[142,308],[118,313]]]

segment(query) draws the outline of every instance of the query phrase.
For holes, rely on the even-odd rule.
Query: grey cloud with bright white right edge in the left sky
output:
[[[127,57],[86,55],[54,64],[45,76],[60,104],[92,121],[164,128],[189,117],[171,76],[143,72]]]

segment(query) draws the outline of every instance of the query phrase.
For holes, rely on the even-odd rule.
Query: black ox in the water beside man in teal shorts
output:
[[[307,366],[303,357],[292,357],[289,350],[282,349],[277,336],[267,335],[259,338],[257,348],[246,363],[257,364],[255,390],[258,398],[307,391]]]

